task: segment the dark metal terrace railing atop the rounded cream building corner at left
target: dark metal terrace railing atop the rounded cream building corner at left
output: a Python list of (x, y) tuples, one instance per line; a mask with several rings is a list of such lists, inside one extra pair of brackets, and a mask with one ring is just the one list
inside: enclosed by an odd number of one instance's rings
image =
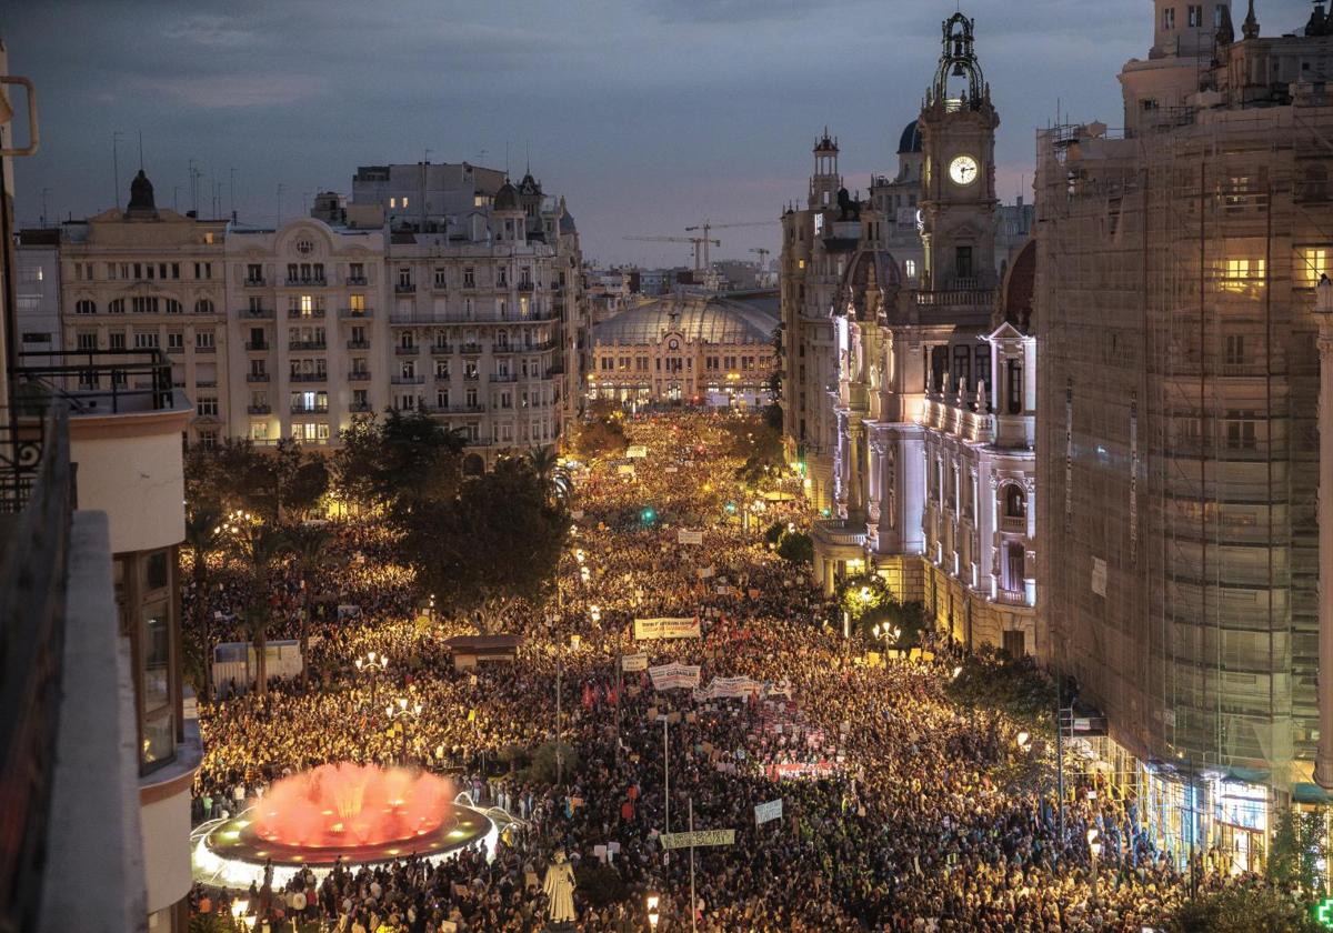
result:
[(157, 349), (28, 351), (19, 353), (13, 392), (20, 408), (64, 399), (71, 415), (119, 415), (176, 407), (172, 364)]

